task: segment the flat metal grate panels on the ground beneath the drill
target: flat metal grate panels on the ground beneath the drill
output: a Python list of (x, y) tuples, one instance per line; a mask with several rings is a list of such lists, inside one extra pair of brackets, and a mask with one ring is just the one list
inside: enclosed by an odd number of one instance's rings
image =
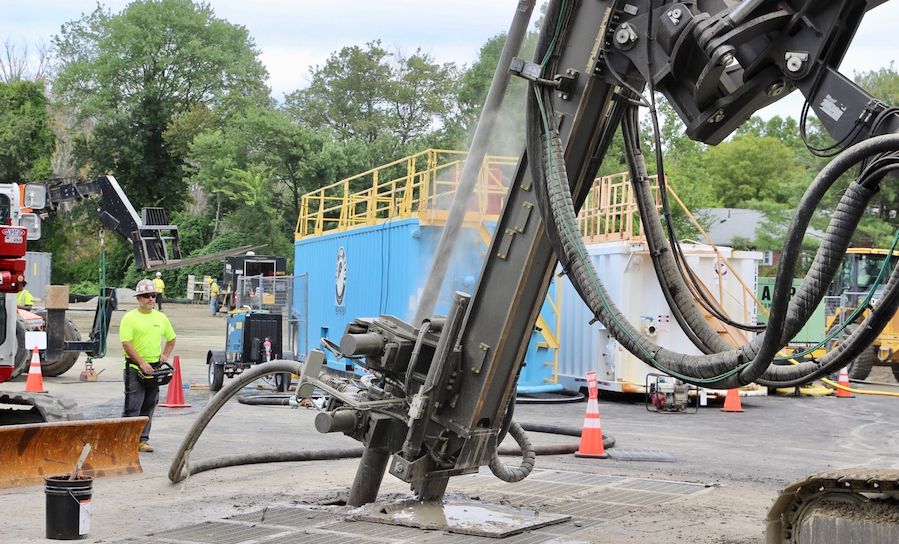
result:
[[(453, 488), (493, 504), (572, 516), (571, 521), (501, 540), (440, 530), (345, 520), (343, 507), (275, 506), (206, 522), (123, 544), (542, 544), (590, 540), (591, 528), (606, 520), (664, 504), (706, 489), (701, 484), (538, 470), (528, 480), (507, 484), (490, 473), (454, 479)], [(404, 491), (405, 492), (405, 491)]]

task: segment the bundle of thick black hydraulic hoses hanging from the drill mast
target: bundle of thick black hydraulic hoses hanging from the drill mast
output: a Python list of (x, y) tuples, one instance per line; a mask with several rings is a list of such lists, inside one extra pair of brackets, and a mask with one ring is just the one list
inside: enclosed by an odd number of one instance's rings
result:
[[(566, 0), (558, 0), (553, 2), (547, 12), (547, 21), (537, 50), (537, 58), (543, 59), (542, 66), (549, 74), (543, 74), (545, 79), (552, 79), (551, 74), (556, 72), (553, 65), (556, 51), (563, 49), (565, 45), (566, 24), (571, 16), (568, 6)], [(696, 319), (701, 314), (695, 308), (691, 309), (692, 297), (686, 292), (682, 280), (676, 277), (679, 276), (679, 273), (675, 273), (677, 264), (670, 254), (666, 255), (670, 248), (666, 247), (667, 242), (661, 234), (655, 207), (647, 201), (650, 195), (645, 183), (645, 164), (639, 152), (635, 104), (641, 99), (638, 94), (620, 97), (615, 107), (629, 110), (625, 112), (622, 121), (625, 150), (639, 189), (636, 192), (639, 195), (641, 219), (663, 291), (666, 292), (674, 314), (681, 316), (681, 325), (686, 323), (684, 329), (688, 336), (701, 349), (705, 346), (703, 351), (713, 352), (699, 356), (686, 355), (662, 348), (644, 337), (612, 303), (577, 228), (573, 204), (575, 198), (571, 194), (565, 170), (562, 140), (555, 124), (550, 122), (555, 119), (552, 89), (532, 83), (531, 90), (527, 110), (528, 154), (532, 157), (531, 175), (550, 241), (575, 289), (595, 317), (618, 342), (647, 364), (685, 382), (713, 388), (739, 387), (751, 382), (771, 387), (798, 385), (845, 365), (879, 334), (895, 313), (899, 306), (899, 301), (896, 300), (899, 298), (897, 270), (893, 271), (877, 307), (839, 349), (819, 361), (795, 366), (771, 366), (777, 351), (802, 328), (823, 298), (849, 246), (852, 234), (876, 192), (877, 184), (888, 172), (899, 168), (893, 155), (899, 150), (899, 135), (876, 136), (856, 144), (837, 155), (818, 174), (803, 195), (790, 224), (783, 257), (777, 270), (766, 332), (742, 348), (731, 349), (720, 339), (709, 335), (710, 327)], [(872, 159), (873, 162), (867, 164)], [(856, 164), (863, 165), (862, 173), (843, 194), (812, 268), (790, 300), (793, 273), (812, 214), (827, 190)]]

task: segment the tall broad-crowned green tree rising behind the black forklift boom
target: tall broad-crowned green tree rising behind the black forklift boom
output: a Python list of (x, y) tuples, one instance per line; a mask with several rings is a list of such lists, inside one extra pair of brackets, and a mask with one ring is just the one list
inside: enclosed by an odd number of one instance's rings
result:
[(224, 115), (268, 101), (247, 30), (206, 3), (137, 0), (119, 14), (98, 7), (64, 24), (54, 45), (54, 94), (89, 127), (76, 145), (79, 165), (115, 173), (142, 205), (184, 203), (182, 157), (164, 137), (178, 114), (202, 104)]

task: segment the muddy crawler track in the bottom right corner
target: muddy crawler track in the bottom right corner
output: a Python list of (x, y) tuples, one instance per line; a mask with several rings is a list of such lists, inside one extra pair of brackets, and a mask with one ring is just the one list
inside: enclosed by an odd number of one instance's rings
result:
[(899, 542), (899, 470), (813, 474), (781, 492), (767, 525), (768, 544)]

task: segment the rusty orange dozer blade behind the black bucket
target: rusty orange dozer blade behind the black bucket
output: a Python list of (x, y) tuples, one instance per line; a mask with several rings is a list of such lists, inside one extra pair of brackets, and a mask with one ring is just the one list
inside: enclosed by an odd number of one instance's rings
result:
[(146, 417), (131, 417), (0, 426), (0, 488), (68, 474), (85, 444), (91, 445), (82, 468), (86, 475), (143, 472), (137, 447), (146, 423)]

